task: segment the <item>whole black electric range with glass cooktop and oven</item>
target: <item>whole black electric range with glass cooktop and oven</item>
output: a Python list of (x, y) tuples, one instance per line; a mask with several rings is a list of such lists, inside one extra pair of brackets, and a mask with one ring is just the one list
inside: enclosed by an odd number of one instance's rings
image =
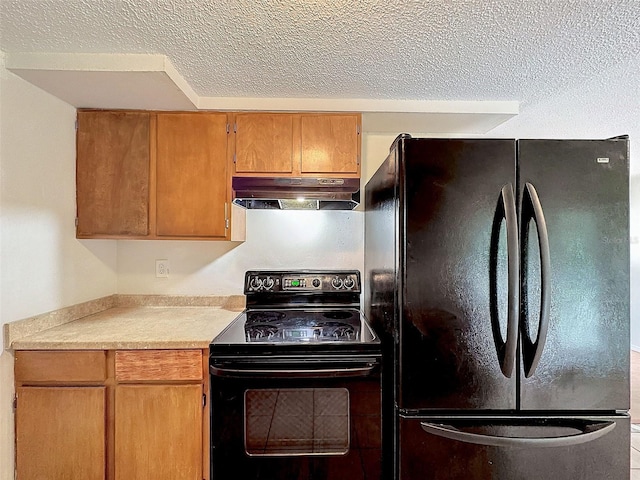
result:
[(360, 273), (249, 271), (209, 347), (211, 479), (381, 479), (381, 346)]

